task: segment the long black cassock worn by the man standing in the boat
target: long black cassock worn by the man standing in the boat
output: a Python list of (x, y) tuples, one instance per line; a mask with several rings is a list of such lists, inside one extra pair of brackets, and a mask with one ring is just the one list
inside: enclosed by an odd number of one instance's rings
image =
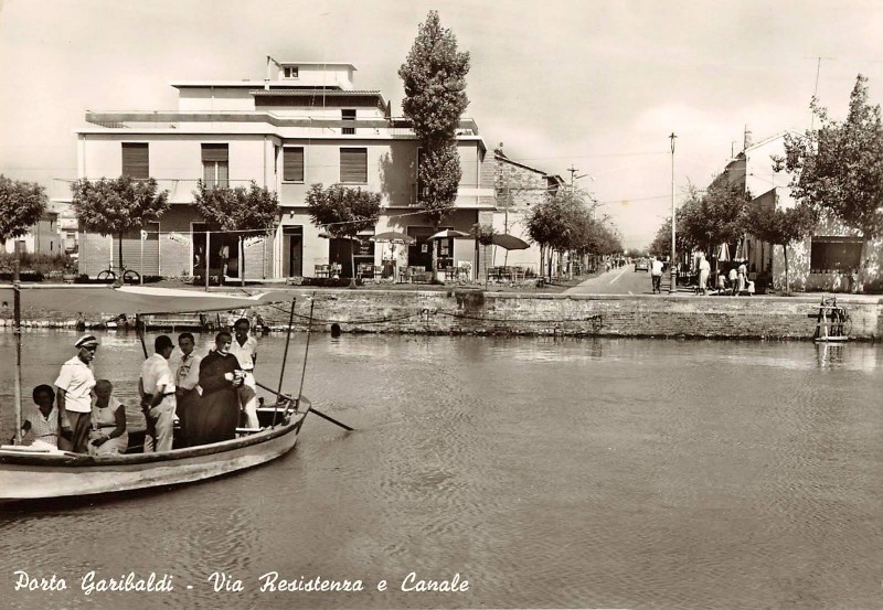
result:
[(240, 395), (224, 378), (225, 373), (240, 368), (233, 354), (211, 352), (200, 363), (202, 396), (188, 408), (184, 432), (188, 445), (208, 445), (236, 438), (240, 424)]

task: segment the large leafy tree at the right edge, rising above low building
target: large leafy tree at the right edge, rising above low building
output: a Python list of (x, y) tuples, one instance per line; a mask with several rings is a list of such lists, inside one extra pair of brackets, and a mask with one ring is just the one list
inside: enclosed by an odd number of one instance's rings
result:
[(883, 235), (883, 122), (880, 105), (868, 101), (868, 78), (861, 74), (850, 94), (842, 122), (810, 104), (819, 118), (818, 130), (785, 136), (785, 156), (775, 158), (776, 170), (794, 174), (794, 197), (817, 212), (830, 212), (861, 233), (862, 266), (868, 240)]

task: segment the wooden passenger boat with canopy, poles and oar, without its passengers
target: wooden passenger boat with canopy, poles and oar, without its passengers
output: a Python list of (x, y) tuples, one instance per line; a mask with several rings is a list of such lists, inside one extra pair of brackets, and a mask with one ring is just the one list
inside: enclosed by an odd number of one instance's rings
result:
[[(170, 314), (192, 311), (223, 311), (266, 304), (274, 295), (228, 297), (195, 291), (146, 289), (140, 287), (25, 287), (7, 288), (14, 292), (15, 329), (19, 341), (15, 366), (17, 430), (21, 428), (21, 304), (34, 306), (51, 298), (51, 290), (64, 290), (56, 301), (65, 311), (126, 312), (136, 315)], [(33, 289), (30, 289), (33, 288)], [(294, 302), (291, 302), (294, 318)], [(286, 357), (290, 327), (286, 340)], [(139, 325), (140, 328), (140, 325)], [(139, 330), (140, 334), (140, 330)], [(307, 349), (309, 349), (309, 332)], [(143, 339), (142, 339), (143, 345)], [(145, 355), (147, 350), (145, 347)], [(305, 356), (306, 361), (306, 356)], [(283, 362), (283, 371), (285, 362)], [(351, 429), (327, 415), (311, 409), (301, 396), (280, 394), (273, 407), (258, 408), (259, 429), (237, 429), (240, 438), (211, 445), (173, 449), (157, 453), (87, 456), (65, 451), (40, 451), (21, 445), (0, 447), (0, 502), (92, 496), (111, 492), (164, 488), (220, 477), (274, 460), (294, 448), (308, 413), (315, 413)], [(301, 378), (302, 387), (302, 378)], [(18, 438), (17, 434), (17, 438)]]

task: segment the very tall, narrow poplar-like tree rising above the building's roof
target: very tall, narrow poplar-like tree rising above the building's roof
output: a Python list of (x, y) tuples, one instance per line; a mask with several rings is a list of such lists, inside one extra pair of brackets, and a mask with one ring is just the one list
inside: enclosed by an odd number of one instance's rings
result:
[[(457, 38), (429, 11), (398, 68), (405, 89), (402, 111), (423, 147), (417, 169), (417, 196), (436, 229), (454, 210), (462, 178), (456, 132), (469, 98), (466, 75), (469, 53), (457, 50)], [(433, 248), (433, 270), (437, 267)]]

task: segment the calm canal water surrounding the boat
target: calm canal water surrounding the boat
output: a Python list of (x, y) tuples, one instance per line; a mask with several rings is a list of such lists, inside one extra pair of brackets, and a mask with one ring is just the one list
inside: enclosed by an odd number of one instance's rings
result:
[[(54, 379), (73, 339), (25, 336), (25, 388)], [(98, 376), (134, 402), (140, 345), (102, 341)], [(0, 334), (4, 438), (12, 345)], [(258, 379), (278, 383), (284, 340), (259, 349)], [(358, 431), (310, 417), (253, 471), (1, 507), (2, 606), (881, 606), (880, 346), (313, 335), (309, 355), (305, 394)], [(92, 570), (173, 590), (86, 595)], [(15, 590), (21, 572), (67, 589)], [(304, 590), (317, 578), (362, 590)], [(414, 590), (429, 580), (456, 590)]]

